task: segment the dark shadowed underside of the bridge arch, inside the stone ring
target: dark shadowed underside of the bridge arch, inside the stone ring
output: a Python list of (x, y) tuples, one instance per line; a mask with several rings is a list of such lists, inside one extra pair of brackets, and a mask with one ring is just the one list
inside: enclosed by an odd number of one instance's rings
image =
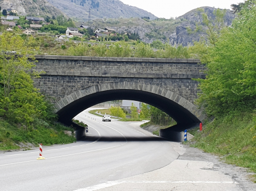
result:
[(77, 99), (57, 112), (59, 121), (70, 126), (72, 124), (72, 118), (83, 110), (112, 100), (135, 100), (161, 109), (177, 122), (177, 125), (169, 128), (169, 130), (175, 132), (181, 132), (200, 123), (200, 120), (194, 114), (173, 100), (155, 93), (133, 89), (113, 89), (96, 92)]

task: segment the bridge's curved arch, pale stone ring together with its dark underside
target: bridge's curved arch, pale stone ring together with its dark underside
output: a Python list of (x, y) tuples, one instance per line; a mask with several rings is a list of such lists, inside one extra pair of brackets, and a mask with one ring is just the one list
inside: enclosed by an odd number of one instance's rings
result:
[(72, 124), (72, 118), (83, 110), (112, 100), (135, 100), (161, 109), (177, 122), (177, 125), (170, 127), (170, 130), (175, 132), (197, 126), (204, 118), (194, 104), (167, 89), (144, 84), (136, 85), (141, 86), (136, 89), (134, 84), (131, 88), (124, 84), (126, 88), (123, 88), (120, 84), (111, 86), (110, 83), (115, 82), (90, 86), (61, 99), (55, 104), (59, 121), (69, 126)]

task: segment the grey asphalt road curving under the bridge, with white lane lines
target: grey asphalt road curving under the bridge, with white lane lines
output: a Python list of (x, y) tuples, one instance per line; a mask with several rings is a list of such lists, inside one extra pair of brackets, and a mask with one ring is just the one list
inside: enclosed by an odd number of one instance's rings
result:
[[(89, 118), (88, 118), (89, 117)], [(76, 190), (160, 169), (177, 159), (173, 143), (134, 126), (82, 112), (86, 139), (69, 145), (0, 154), (0, 190)], [(92, 118), (95, 118), (93, 120)]]

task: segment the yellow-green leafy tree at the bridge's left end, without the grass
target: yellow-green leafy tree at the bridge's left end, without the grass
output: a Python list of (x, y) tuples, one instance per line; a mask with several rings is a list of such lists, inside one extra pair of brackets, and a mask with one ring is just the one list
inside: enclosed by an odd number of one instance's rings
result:
[[(33, 37), (23, 40), (20, 35), (3, 33), (0, 40), (0, 115), (29, 130), (36, 118), (47, 118), (47, 103), (33, 87), (32, 77), (39, 74), (29, 72), (38, 48), (31, 46), (35, 44)], [(5, 53), (11, 51), (21, 56)]]

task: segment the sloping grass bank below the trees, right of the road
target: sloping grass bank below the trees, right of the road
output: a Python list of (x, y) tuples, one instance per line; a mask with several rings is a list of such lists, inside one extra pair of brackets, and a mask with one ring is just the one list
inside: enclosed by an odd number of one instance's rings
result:
[(190, 145), (256, 173), (256, 117), (252, 114), (215, 119), (195, 133)]

